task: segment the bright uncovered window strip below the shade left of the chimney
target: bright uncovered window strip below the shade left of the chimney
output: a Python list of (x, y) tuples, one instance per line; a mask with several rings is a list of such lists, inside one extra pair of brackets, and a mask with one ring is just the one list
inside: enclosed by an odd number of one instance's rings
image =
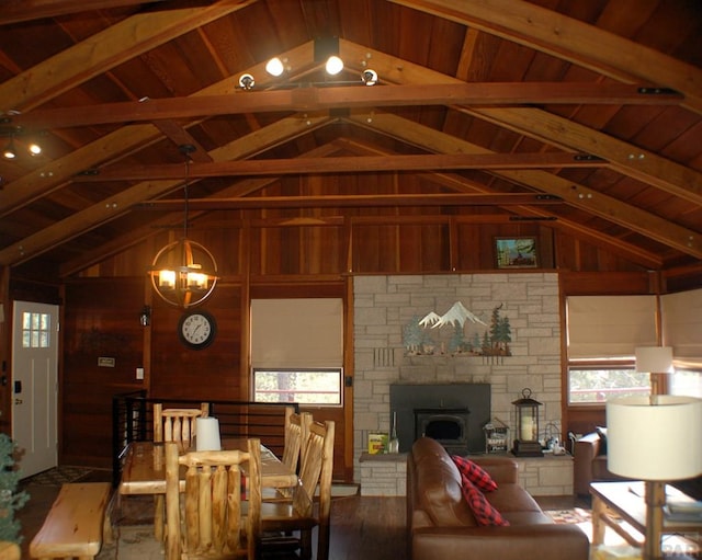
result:
[(341, 368), (253, 369), (256, 402), (341, 405)]

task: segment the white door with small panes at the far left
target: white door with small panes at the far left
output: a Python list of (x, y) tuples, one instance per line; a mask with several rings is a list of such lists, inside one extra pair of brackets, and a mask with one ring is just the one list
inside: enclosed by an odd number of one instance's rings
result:
[(22, 477), (58, 465), (58, 307), (14, 301), (12, 438)]

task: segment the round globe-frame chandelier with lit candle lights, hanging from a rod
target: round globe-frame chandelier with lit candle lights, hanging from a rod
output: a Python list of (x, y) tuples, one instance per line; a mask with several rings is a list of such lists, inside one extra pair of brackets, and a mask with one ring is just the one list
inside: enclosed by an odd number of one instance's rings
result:
[(202, 244), (188, 239), (188, 182), (192, 145), (180, 146), (185, 156), (185, 219), (183, 237), (163, 247), (151, 263), (151, 286), (167, 304), (186, 309), (202, 304), (217, 284), (217, 263)]

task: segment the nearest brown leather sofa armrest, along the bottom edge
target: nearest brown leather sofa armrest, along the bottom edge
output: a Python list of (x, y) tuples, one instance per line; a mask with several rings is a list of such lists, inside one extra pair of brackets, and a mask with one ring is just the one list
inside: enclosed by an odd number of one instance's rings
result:
[(590, 541), (575, 525), (432, 527), (415, 532), (411, 560), (588, 560)]

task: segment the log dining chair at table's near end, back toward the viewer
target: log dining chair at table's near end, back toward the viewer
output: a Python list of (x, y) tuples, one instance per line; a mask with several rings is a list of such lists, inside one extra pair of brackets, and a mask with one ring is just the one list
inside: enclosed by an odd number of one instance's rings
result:
[(254, 560), (261, 537), (261, 441), (248, 439), (246, 452), (180, 455), (178, 444), (165, 447), (166, 560)]

